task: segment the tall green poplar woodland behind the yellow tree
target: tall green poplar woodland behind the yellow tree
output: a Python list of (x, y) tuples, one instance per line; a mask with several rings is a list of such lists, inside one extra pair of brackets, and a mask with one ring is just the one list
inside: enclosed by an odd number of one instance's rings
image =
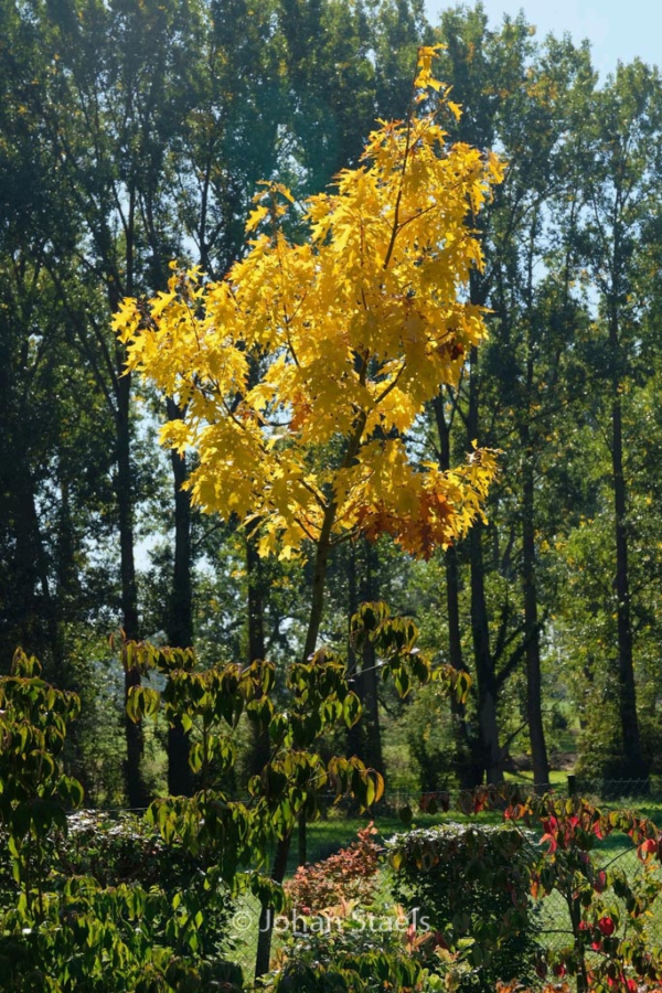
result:
[(428, 562), (344, 546), (322, 633), (345, 648), (384, 599), (472, 688), (399, 701), (366, 644), (344, 744), (403, 790), (662, 771), (658, 70), (600, 85), (587, 44), (480, 4), (430, 24), (417, 0), (0, 0), (0, 673), (20, 644), (83, 696), (68, 761), (90, 803), (191, 787), (178, 729), (122, 716), (109, 634), (282, 669), (311, 585), (191, 508), (186, 458), (156, 440), (181, 410), (121, 375), (111, 316), (173, 258), (221, 277), (260, 180), (302, 197), (355, 166), (439, 41), (463, 110), (445, 126), (508, 171), (470, 287), (490, 340), (409, 444), (445, 469), (477, 440), (500, 478), (488, 523)]

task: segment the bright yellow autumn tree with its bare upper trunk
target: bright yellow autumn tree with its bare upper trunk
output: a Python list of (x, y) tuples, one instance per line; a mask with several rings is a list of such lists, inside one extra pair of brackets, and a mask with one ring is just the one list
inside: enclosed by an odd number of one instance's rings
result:
[[(419, 51), (414, 106), (433, 88), (457, 115), (434, 54)], [(196, 452), (193, 502), (254, 530), (263, 555), (314, 549), (306, 655), (334, 545), (387, 533), (428, 557), (481, 514), (494, 474), (490, 451), (441, 472), (407, 448), (485, 334), (467, 302), (482, 265), (470, 224), (502, 178), (494, 156), (449, 146), (438, 118), (380, 122), (360, 167), (302, 206), (265, 184), (247, 253), (224, 279), (175, 269), (169, 292), (126, 299), (115, 318), (128, 369), (185, 412), (161, 441)], [(297, 239), (284, 233), (288, 211)]]

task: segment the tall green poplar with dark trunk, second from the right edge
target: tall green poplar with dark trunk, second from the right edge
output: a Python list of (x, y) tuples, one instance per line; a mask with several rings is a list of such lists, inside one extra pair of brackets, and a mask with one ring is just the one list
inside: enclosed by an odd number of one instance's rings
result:
[[(548, 508), (543, 515), (537, 502), (546, 428), (570, 402), (576, 385), (572, 353), (567, 366), (560, 360), (580, 318), (569, 291), (576, 255), (552, 263), (551, 250), (558, 227), (572, 224), (565, 207), (568, 191), (575, 193), (572, 129), (594, 77), (586, 47), (554, 39), (536, 44), (523, 17), (490, 29), (480, 4), (446, 12), (440, 36), (447, 44), (445, 74), (462, 106), (453, 134), (502, 149), (508, 161), (504, 183), (477, 221), (487, 264), (471, 285), (472, 299), (493, 311), (489, 322), (494, 333), (480, 359), (478, 353), (467, 356), (460, 391), (445, 391), (433, 410), (442, 466), (476, 438), (504, 450), (490, 524), (472, 531), (466, 552), (446, 553), (449, 658), (458, 669), (476, 671), (476, 714), (455, 715), (456, 747), (468, 757), (465, 784), (483, 776), (500, 781), (508, 745), (527, 726), (534, 778), (544, 787), (548, 759), (538, 558)], [(541, 279), (538, 273), (547, 266), (553, 275)], [(526, 704), (509, 728), (508, 686), (522, 670)]]

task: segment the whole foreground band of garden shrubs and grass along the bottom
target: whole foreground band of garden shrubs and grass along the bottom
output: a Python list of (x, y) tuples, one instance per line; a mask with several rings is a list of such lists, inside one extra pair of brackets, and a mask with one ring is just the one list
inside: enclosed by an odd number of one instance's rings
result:
[[(309, 691), (327, 682), (329, 666), (333, 674), (333, 662), (318, 654), (298, 673), (302, 724), (318, 712)], [(254, 673), (211, 672), (206, 700), (180, 712), (200, 716), (213, 705), (220, 714), (204, 765), (244, 705), (258, 704), (252, 713), (277, 739), (268, 685), (256, 696)], [(325, 703), (343, 695), (342, 679), (333, 682)], [(154, 694), (151, 712), (164, 704)], [(297, 786), (301, 769), (321, 768), (317, 735), (290, 768), (286, 737), (246, 802), (207, 782), (189, 799), (154, 800), (145, 816), (67, 814), (84, 802), (62, 767), (77, 698), (18, 654), (13, 674), (0, 680), (0, 980), (8, 993), (478, 993), (546, 978), (572, 980), (578, 991), (636, 993), (662, 979), (662, 834), (645, 816), (483, 787), (461, 798), (462, 822), (401, 830), (384, 844), (371, 821), (351, 844), (300, 864), (280, 885), (285, 874), (265, 874), (270, 855), (295, 825), (301, 831), (321, 816), (310, 784)], [(354, 720), (351, 711), (345, 722)], [(378, 803), (380, 782), (360, 762), (337, 758), (329, 770), (324, 787), (334, 784), (337, 802)], [(428, 794), (424, 815), (435, 804)], [(502, 823), (483, 823), (485, 813)], [(265, 909), (275, 915), (277, 942), (260, 971)], [(257, 954), (256, 985), (247, 949)]]

